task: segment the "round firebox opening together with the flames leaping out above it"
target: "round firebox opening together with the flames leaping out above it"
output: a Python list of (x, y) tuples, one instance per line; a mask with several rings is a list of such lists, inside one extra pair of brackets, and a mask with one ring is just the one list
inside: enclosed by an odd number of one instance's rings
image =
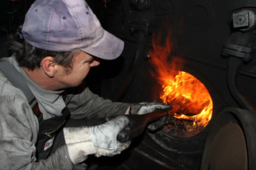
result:
[[(167, 36), (164, 38), (165, 31)], [(196, 135), (204, 130), (211, 120), (213, 104), (204, 84), (184, 71), (186, 60), (171, 55), (176, 43), (172, 29), (165, 31), (158, 32), (152, 40), (149, 62), (154, 69), (151, 74), (161, 85), (161, 101), (173, 106), (171, 115), (176, 118), (175, 123), (169, 123), (163, 130), (171, 136), (187, 138), (184, 135), (187, 132)], [(191, 137), (190, 134), (188, 136)]]

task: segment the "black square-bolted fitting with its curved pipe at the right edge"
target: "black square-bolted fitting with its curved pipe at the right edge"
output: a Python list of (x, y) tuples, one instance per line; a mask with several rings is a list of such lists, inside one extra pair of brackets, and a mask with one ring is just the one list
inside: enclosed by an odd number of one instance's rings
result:
[(239, 9), (231, 13), (229, 23), (232, 34), (223, 45), (223, 55), (229, 57), (227, 82), (231, 94), (242, 108), (256, 114), (254, 104), (242, 93), (238, 85), (238, 74), (243, 62), (250, 62), (255, 57), (255, 9)]

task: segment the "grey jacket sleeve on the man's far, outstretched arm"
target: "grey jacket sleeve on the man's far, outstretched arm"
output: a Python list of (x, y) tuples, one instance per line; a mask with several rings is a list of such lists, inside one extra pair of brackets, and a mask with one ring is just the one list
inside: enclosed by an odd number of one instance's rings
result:
[(77, 92), (72, 92), (74, 95), (68, 95), (66, 100), (73, 119), (124, 115), (127, 108), (130, 107), (130, 104), (112, 102), (91, 93), (85, 83), (80, 86), (80, 89), (76, 90)]

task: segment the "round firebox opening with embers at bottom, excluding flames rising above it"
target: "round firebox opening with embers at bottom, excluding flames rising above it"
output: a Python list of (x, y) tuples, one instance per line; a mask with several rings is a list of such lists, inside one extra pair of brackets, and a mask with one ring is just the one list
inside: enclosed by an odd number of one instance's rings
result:
[[(175, 75), (175, 74), (176, 75)], [(176, 138), (191, 138), (200, 134), (212, 115), (212, 100), (208, 89), (192, 74), (184, 71), (169, 72), (163, 79), (160, 98), (173, 106), (174, 123), (166, 124), (161, 132)]]

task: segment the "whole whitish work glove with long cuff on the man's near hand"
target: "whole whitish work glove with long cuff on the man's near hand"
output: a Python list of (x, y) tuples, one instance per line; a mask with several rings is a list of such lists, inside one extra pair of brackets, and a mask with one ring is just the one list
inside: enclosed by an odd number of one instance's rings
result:
[(87, 159), (87, 155), (112, 157), (127, 149), (129, 142), (118, 142), (118, 133), (127, 127), (129, 119), (118, 115), (115, 119), (95, 127), (65, 127), (64, 138), (73, 164)]

